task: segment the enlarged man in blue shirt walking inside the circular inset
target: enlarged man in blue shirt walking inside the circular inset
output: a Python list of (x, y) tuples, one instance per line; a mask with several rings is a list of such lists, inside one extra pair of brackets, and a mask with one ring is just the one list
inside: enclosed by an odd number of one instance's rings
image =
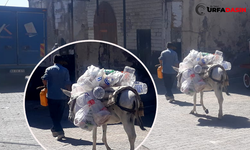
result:
[(48, 89), (46, 97), (48, 99), (50, 117), (53, 122), (51, 132), (57, 140), (61, 140), (64, 137), (61, 119), (67, 100), (67, 96), (61, 91), (61, 88), (70, 89), (71, 82), (69, 71), (62, 66), (65, 63), (62, 56), (55, 55), (53, 61), (54, 65), (45, 70), (42, 81)]

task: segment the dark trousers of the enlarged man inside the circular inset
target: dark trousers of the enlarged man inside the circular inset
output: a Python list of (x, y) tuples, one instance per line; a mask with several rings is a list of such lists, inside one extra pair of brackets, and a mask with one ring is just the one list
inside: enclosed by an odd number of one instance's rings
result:
[(52, 132), (63, 133), (61, 120), (62, 120), (65, 104), (66, 104), (66, 100), (54, 100), (54, 99), (48, 98), (49, 113), (53, 122), (53, 126), (51, 128)]

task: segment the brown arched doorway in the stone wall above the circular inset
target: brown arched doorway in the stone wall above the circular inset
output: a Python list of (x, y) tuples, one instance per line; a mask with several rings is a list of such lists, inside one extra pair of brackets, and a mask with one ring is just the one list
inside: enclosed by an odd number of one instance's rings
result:
[(99, 9), (95, 12), (94, 38), (117, 44), (116, 17), (108, 2), (101, 2)]

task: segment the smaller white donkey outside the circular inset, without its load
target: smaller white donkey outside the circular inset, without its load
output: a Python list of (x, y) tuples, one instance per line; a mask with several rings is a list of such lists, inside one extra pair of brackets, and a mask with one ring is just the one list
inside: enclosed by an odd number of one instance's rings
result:
[[(175, 71), (178, 72), (177, 75), (177, 80), (180, 81), (181, 78), (181, 73), (178, 71), (179, 69), (176, 67), (173, 67)], [(222, 104), (223, 104), (223, 95), (222, 95), (222, 90), (224, 89), (226, 94), (229, 95), (227, 91), (227, 86), (229, 85), (228, 82), (228, 76), (224, 68), (220, 65), (214, 65), (209, 68), (204, 68), (206, 70), (205, 75), (203, 76), (204, 82), (206, 83), (205, 88), (200, 92), (200, 103), (201, 106), (203, 107), (203, 110), (205, 111), (206, 114), (209, 113), (208, 109), (204, 106), (203, 103), (203, 92), (204, 91), (211, 91), (213, 90), (215, 93), (215, 96), (218, 99), (219, 103), (219, 114), (218, 118), (221, 119), (223, 116), (223, 111), (222, 111)], [(208, 69), (208, 70), (207, 70)], [(178, 85), (180, 87), (180, 85)], [(191, 114), (197, 113), (196, 112), (196, 94), (193, 96), (194, 100), (194, 106), (193, 110), (190, 112)]]

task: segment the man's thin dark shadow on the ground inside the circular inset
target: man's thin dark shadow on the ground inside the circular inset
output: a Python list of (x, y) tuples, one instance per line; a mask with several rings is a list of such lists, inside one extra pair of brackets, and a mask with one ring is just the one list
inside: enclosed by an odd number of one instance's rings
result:
[[(70, 144), (73, 146), (92, 145), (93, 144), (93, 142), (90, 142), (90, 141), (85, 141), (82, 139), (74, 139), (74, 138), (70, 138), (70, 137), (65, 137), (59, 142), (67, 143), (67, 144)], [(103, 143), (96, 143), (96, 145), (104, 145), (104, 144)]]

